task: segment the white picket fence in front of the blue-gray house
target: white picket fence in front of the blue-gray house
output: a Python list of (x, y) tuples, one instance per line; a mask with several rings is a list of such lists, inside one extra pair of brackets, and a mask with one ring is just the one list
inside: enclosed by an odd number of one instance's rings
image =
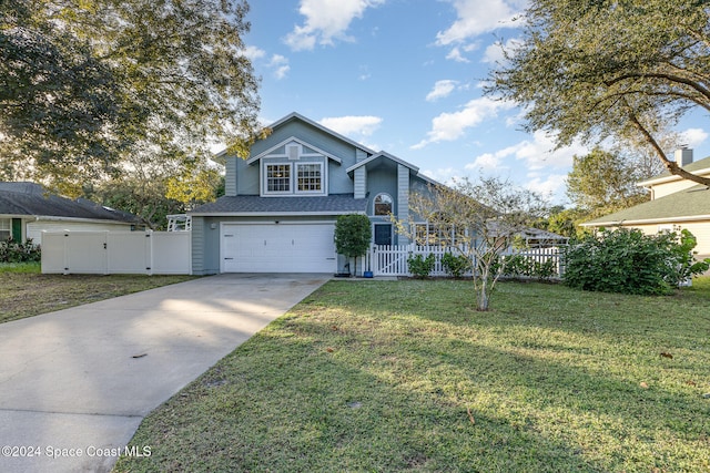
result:
[[(458, 254), (456, 250), (442, 246), (373, 245), (365, 255), (363, 267), (364, 270), (371, 270), (373, 276), (412, 276), (407, 258), (415, 255), (423, 255), (425, 257), (427, 255), (434, 255), (436, 263), (429, 276), (448, 276), (448, 273), (442, 265), (442, 256), (446, 253)], [(529, 248), (525, 250), (509, 249), (503, 254), (503, 256), (509, 255), (520, 255), (540, 264), (552, 259), (556, 268), (555, 277), (561, 277), (564, 274), (559, 247)]]

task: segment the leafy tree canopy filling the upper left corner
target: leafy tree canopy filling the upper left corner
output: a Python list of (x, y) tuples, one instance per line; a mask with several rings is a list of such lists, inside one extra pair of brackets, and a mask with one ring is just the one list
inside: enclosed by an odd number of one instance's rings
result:
[[(4, 0), (0, 173), (67, 194), (132, 160), (245, 155), (258, 81), (242, 0)], [(201, 168), (197, 164), (195, 167)]]

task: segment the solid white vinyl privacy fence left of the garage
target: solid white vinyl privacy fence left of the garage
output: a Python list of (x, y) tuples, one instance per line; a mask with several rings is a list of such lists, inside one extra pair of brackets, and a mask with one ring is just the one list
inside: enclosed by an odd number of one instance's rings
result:
[(190, 232), (43, 232), (44, 274), (192, 274)]

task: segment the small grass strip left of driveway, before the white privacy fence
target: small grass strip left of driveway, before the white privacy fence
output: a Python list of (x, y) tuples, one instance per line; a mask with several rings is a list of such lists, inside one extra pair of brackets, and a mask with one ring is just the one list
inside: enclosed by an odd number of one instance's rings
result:
[(182, 282), (193, 276), (42, 275), (32, 263), (0, 265), (0, 322)]

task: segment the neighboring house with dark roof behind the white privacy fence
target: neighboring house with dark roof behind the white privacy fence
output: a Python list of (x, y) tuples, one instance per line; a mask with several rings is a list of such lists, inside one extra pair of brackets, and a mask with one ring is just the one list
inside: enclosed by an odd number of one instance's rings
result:
[(135, 224), (131, 214), (52, 195), (39, 184), (0, 182), (0, 239), (41, 244), (43, 230), (131, 230)]

